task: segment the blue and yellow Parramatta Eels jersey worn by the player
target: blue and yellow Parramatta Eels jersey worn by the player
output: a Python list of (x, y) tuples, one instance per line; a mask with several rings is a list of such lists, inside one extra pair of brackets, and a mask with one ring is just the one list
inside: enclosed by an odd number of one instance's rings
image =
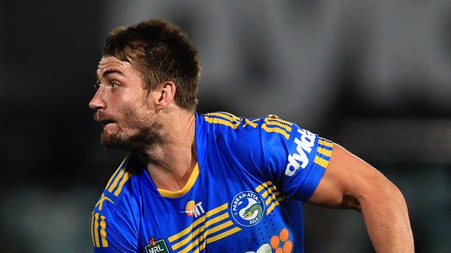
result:
[(135, 154), (125, 158), (92, 213), (95, 252), (303, 252), (301, 203), (332, 142), (275, 115), (224, 112), (196, 113), (195, 141), (180, 191), (158, 189)]

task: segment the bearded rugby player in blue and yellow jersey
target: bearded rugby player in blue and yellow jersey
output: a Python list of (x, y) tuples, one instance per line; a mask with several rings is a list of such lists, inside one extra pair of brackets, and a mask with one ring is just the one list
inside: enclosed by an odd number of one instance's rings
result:
[(90, 108), (103, 146), (130, 152), (94, 207), (95, 252), (303, 252), (303, 202), (358, 210), (377, 252), (414, 252), (379, 171), (276, 115), (196, 113), (199, 73), (167, 21), (106, 38)]

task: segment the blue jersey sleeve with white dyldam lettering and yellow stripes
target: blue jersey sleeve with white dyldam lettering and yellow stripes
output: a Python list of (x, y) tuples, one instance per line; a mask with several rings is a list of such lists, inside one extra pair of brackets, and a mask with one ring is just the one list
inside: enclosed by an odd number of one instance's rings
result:
[(262, 164), (284, 195), (306, 201), (318, 186), (333, 143), (275, 115), (264, 118), (260, 141)]

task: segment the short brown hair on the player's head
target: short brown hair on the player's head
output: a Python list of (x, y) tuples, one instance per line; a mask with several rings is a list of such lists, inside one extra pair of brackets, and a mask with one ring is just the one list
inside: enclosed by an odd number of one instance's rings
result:
[(176, 103), (194, 110), (200, 76), (198, 50), (188, 43), (178, 26), (161, 19), (112, 30), (105, 39), (103, 55), (130, 62), (144, 76), (151, 90), (163, 82), (176, 84)]

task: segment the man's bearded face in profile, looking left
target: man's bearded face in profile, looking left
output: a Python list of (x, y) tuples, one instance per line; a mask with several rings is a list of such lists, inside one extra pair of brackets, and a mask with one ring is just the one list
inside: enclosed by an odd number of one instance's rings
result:
[(104, 56), (96, 75), (98, 89), (90, 108), (96, 111), (94, 120), (103, 126), (103, 146), (139, 151), (162, 142), (142, 74), (129, 62)]

